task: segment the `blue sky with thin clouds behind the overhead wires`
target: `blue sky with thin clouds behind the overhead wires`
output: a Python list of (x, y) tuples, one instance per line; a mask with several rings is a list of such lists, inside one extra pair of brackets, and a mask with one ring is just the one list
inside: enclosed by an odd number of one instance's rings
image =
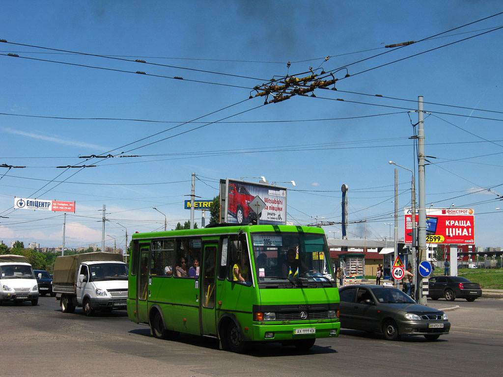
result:
[[(388, 161), (417, 181), (423, 96), (426, 206), (473, 209), (475, 245), (503, 246), (501, 12), (454, 0), (7, 2), (0, 240), (61, 245), (62, 212), (14, 209), (32, 198), (75, 202), (69, 248), (101, 247), (105, 205), (106, 246), (124, 247), (125, 230), (189, 220), (192, 172), (200, 199), (219, 179), (280, 182), (287, 221), (329, 224), (330, 238), (347, 184), (348, 238), (389, 239)], [(310, 70), (338, 80), (314, 97), (254, 97)], [(92, 155), (114, 157), (81, 158)], [(82, 165), (95, 166), (64, 168)], [(410, 180), (398, 168), (400, 237)]]

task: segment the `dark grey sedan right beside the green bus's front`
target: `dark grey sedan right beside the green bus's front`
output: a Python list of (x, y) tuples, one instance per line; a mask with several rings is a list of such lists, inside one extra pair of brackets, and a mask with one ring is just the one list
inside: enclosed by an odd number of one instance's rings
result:
[(435, 340), (451, 328), (447, 314), (416, 304), (396, 288), (348, 286), (339, 290), (339, 296), (342, 328), (384, 333), (388, 340), (400, 335)]

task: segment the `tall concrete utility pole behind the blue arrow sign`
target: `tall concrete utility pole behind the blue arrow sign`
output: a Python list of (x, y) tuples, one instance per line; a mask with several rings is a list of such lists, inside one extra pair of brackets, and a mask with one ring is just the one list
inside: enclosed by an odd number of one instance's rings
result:
[[(418, 115), (418, 128), (417, 128), (417, 170), (419, 176), (419, 234), (418, 244), (419, 253), (417, 263), (421, 263), (426, 258), (426, 194), (425, 194), (425, 122), (423, 117), (423, 96), (417, 98), (417, 115)], [(430, 272), (431, 273), (431, 272)], [(428, 280), (427, 280), (428, 281)], [(426, 296), (423, 296), (423, 278), (417, 276), (416, 291), (418, 293), (419, 303), (426, 305)], [(417, 298), (416, 297), (416, 298)]]

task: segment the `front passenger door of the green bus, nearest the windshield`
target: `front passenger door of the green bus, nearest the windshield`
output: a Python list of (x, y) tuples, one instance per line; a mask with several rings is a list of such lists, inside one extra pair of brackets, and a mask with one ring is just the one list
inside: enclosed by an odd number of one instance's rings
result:
[(215, 266), (217, 244), (206, 244), (203, 251), (201, 329), (204, 335), (217, 335), (215, 315)]

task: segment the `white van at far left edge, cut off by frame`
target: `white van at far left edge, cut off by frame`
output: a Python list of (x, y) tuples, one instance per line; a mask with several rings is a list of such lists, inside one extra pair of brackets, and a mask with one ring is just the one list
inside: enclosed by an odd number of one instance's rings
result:
[(21, 304), (31, 301), (38, 304), (37, 279), (27, 257), (22, 255), (0, 255), (0, 304), (14, 301)]

